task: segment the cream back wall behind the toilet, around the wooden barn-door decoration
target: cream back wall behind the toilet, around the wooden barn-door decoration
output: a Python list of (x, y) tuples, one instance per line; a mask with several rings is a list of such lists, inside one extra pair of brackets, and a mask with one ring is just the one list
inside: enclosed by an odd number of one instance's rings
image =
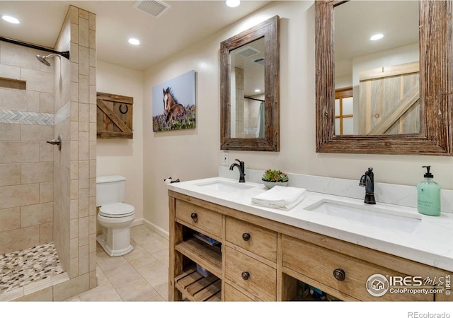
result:
[(96, 81), (98, 92), (134, 98), (134, 139), (98, 139), (96, 148), (97, 176), (126, 177), (125, 203), (135, 208), (134, 225), (143, 218), (143, 72), (98, 61)]

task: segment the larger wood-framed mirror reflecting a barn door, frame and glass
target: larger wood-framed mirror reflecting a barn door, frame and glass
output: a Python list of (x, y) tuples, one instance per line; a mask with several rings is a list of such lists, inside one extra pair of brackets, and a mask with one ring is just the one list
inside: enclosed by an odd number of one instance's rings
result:
[[(357, 55), (343, 59), (348, 54), (343, 45), (355, 45), (348, 37), (372, 35), (355, 33), (367, 30), (372, 18), (342, 18), (355, 10), (352, 4), (369, 6), (360, 12), (384, 20), (380, 41), (399, 34), (400, 42), (382, 49), (384, 42), (376, 41), (374, 52), (355, 47)], [(382, 8), (372, 8), (375, 4)], [(390, 14), (382, 12), (401, 4), (405, 11), (391, 26)], [(413, 17), (403, 22), (401, 14)], [(316, 152), (453, 155), (452, 2), (325, 0), (315, 1), (315, 15)], [(362, 24), (342, 35), (355, 22)], [(407, 33), (399, 33), (406, 25)], [(335, 92), (347, 86), (353, 91), (352, 134), (340, 134)]]

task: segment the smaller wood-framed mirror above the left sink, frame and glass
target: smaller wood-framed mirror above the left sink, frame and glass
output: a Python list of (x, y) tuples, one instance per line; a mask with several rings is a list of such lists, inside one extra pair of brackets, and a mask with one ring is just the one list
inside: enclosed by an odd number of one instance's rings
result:
[(279, 25), (274, 16), (220, 44), (222, 150), (280, 151)]

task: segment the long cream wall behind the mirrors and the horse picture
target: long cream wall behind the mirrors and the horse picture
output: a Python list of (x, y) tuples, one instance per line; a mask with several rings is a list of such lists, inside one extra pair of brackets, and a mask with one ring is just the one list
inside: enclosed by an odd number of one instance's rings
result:
[[(277, 1), (262, 11), (212, 35), (144, 73), (144, 123), (151, 121), (151, 90), (162, 81), (197, 72), (197, 128), (153, 133), (144, 125), (144, 218), (168, 230), (164, 178), (181, 181), (213, 177), (222, 162), (220, 150), (220, 42), (280, 16), (280, 152), (229, 151), (246, 168), (274, 168), (305, 175), (357, 179), (374, 167), (377, 182), (415, 185), (422, 165), (432, 165), (435, 181), (453, 189), (453, 158), (420, 155), (352, 155), (315, 151), (314, 2)], [(238, 175), (239, 177), (239, 175)]]

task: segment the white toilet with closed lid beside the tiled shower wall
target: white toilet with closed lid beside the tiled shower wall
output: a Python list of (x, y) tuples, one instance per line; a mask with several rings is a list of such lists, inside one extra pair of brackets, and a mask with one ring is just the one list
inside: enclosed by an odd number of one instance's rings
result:
[(126, 178), (120, 175), (96, 177), (96, 206), (102, 234), (96, 237), (110, 257), (132, 251), (129, 225), (135, 218), (134, 206), (124, 204)]

